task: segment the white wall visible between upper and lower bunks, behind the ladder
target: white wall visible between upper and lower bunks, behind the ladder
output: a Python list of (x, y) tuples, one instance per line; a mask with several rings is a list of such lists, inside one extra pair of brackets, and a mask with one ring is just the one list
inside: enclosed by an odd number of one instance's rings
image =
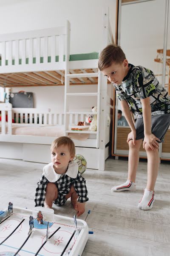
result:
[[(26, 92), (33, 92), (34, 97), (34, 108), (43, 109), (48, 111), (50, 108), (51, 111), (58, 113), (64, 112), (64, 86), (41, 86), (41, 87), (13, 87), (11, 91), (13, 93), (24, 90)], [(72, 85), (72, 92), (96, 92), (97, 85)], [(96, 106), (97, 97), (85, 97), (82, 100), (82, 97), (71, 97), (69, 109), (70, 110), (91, 110), (91, 107)]]

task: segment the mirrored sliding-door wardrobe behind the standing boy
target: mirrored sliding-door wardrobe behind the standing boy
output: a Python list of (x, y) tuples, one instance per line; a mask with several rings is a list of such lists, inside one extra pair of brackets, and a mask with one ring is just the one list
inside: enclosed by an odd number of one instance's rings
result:
[[(170, 94), (170, 4), (169, 0), (122, 0), (118, 3), (117, 44), (134, 66), (143, 66), (153, 71)], [(114, 92), (115, 93), (115, 92)], [(112, 155), (127, 156), (127, 135), (130, 127), (121, 113), (121, 105), (115, 95), (113, 108)], [(136, 116), (131, 115), (135, 122)], [(170, 128), (160, 145), (160, 158), (170, 160)], [(140, 157), (146, 157), (142, 145)]]

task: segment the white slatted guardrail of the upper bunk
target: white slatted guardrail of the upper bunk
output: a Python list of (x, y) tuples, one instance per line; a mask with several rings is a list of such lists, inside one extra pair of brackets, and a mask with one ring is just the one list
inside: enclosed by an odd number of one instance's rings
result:
[(66, 34), (63, 26), (0, 35), (0, 73), (61, 69)]

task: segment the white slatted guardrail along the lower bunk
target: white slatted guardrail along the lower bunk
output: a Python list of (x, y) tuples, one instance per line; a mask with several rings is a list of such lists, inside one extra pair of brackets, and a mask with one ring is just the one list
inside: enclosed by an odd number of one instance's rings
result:
[[(64, 128), (64, 113), (45, 112), (37, 108), (12, 108), (11, 103), (0, 103), (0, 113), (1, 134), (3, 135), (12, 135), (12, 122), (14, 125), (63, 125)], [(80, 120), (83, 122), (87, 113), (70, 112), (69, 125), (77, 125)]]

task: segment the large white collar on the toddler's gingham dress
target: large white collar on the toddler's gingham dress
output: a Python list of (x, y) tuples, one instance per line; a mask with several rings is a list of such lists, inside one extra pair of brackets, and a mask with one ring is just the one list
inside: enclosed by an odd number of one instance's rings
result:
[[(74, 162), (70, 162), (68, 164), (67, 172), (64, 175), (68, 175), (69, 177), (75, 179), (78, 174), (78, 164)], [(49, 182), (56, 182), (61, 177), (61, 174), (57, 174), (54, 170), (54, 166), (52, 163), (48, 163), (43, 168), (43, 175), (47, 178)]]

